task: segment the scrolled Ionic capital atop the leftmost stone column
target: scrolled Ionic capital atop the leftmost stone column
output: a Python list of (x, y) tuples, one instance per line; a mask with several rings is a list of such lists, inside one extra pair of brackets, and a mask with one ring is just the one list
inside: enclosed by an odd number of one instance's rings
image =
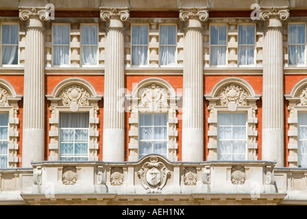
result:
[(19, 7), (19, 18), (27, 21), (30, 17), (38, 17), (41, 21), (49, 20), (49, 8), (45, 7)]

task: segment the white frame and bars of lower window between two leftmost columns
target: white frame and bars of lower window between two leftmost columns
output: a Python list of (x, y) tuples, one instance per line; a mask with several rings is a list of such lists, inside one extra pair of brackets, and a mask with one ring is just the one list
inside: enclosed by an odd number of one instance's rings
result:
[[(63, 112), (60, 112), (60, 115), (61, 115), (61, 113), (63, 113)], [(69, 113), (73, 114), (73, 112), (69, 112)], [(90, 112), (88, 112), (88, 121), (90, 120), (89, 116), (90, 116)], [(61, 130), (64, 130), (64, 129), (67, 129), (67, 130), (73, 129), (73, 141), (72, 142), (62, 142), (62, 140), (61, 140)], [(76, 144), (76, 142), (75, 142), (75, 130), (78, 130), (78, 129), (79, 130), (82, 129), (82, 130), (87, 130), (88, 131), (88, 140), (86, 142), (88, 149), (87, 149), (87, 152), (86, 152), (86, 154), (87, 154), (86, 156), (77, 156), (77, 155), (75, 155), (75, 144)], [(59, 138), (59, 140), (60, 140), (60, 142), (59, 142), (59, 144), (60, 144), (60, 151), (61, 151), (61, 143), (73, 143), (73, 155), (72, 156), (61, 155), (61, 152), (60, 152), (60, 160), (66, 160), (66, 159), (62, 159), (63, 157), (69, 157), (69, 158), (73, 158), (73, 161), (75, 161), (75, 159), (78, 158), (78, 157), (86, 157), (86, 161), (87, 161), (88, 160), (88, 156), (90, 154), (90, 150), (89, 150), (89, 144), (90, 144), (90, 124), (88, 124), (87, 128), (61, 128), (60, 127), (59, 132), (60, 132), (59, 133), (59, 136), (60, 136), (60, 138)], [(85, 143), (85, 142), (82, 142), (82, 143)]]

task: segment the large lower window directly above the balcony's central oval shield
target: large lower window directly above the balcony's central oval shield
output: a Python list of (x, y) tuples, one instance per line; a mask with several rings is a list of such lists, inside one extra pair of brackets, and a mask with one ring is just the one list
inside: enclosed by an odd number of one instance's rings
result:
[(167, 157), (167, 114), (140, 114), (139, 157), (158, 153)]

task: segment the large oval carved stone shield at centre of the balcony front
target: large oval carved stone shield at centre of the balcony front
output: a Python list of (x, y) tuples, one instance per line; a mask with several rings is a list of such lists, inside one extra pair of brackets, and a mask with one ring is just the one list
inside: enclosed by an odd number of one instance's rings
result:
[(171, 175), (171, 171), (167, 169), (165, 164), (159, 162), (158, 157), (155, 155), (151, 156), (149, 162), (143, 164), (138, 171), (138, 177), (140, 177), (147, 193), (161, 192), (167, 183), (169, 175)]

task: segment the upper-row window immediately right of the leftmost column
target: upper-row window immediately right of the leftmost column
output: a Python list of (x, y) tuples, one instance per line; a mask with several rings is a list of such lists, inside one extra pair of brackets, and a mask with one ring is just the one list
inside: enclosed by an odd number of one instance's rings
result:
[(53, 65), (69, 64), (69, 25), (53, 25)]

